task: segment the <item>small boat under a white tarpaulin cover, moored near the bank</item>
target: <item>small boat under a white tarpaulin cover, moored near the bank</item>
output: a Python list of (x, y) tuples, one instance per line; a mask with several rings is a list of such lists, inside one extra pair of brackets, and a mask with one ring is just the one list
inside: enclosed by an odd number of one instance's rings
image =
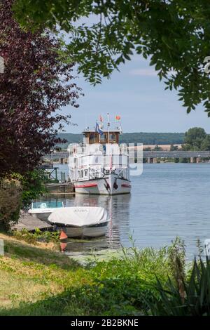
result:
[(110, 221), (103, 207), (64, 207), (53, 211), (48, 222), (62, 229), (68, 237), (99, 237), (106, 235)]

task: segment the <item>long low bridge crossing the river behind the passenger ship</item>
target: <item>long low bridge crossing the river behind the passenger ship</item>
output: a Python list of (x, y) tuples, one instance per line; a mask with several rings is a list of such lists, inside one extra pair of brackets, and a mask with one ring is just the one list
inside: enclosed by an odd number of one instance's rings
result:
[[(135, 148), (136, 149), (136, 148)], [(45, 154), (43, 159), (59, 159), (59, 163), (63, 164), (67, 161), (69, 152), (52, 152)], [(143, 151), (143, 158), (146, 158), (148, 163), (157, 161), (158, 158), (190, 158), (191, 163), (198, 163), (201, 158), (210, 158), (210, 151)]]

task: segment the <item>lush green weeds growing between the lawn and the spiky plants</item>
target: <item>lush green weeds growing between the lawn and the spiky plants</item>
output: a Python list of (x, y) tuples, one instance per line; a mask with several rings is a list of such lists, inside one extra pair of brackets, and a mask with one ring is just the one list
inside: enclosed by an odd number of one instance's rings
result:
[(168, 251), (133, 246), (123, 252), (122, 258), (95, 262), (90, 269), (92, 285), (69, 292), (66, 313), (72, 312), (73, 305), (83, 309), (84, 315), (142, 315), (148, 311), (146, 301), (157, 293), (156, 275), (166, 282), (172, 274)]

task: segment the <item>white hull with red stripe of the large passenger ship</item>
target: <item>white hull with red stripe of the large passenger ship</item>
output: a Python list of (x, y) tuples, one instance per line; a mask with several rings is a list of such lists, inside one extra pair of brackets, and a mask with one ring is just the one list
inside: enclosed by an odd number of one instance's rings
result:
[(130, 180), (108, 174), (104, 178), (81, 180), (74, 183), (75, 192), (79, 194), (130, 194)]

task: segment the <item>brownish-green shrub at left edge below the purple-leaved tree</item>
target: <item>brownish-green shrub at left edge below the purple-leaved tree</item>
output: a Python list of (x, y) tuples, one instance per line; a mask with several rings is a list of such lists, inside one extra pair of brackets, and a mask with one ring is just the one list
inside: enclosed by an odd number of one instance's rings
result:
[(0, 182), (0, 230), (8, 231), (20, 216), (22, 187), (19, 180)]

